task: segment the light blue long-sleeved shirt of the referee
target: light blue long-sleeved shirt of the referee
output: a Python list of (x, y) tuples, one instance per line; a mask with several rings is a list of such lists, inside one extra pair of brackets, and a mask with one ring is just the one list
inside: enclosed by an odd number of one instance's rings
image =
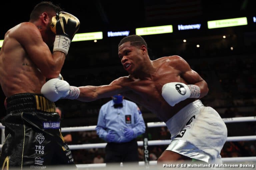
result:
[[(134, 135), (126, 138), (125, 128), (132, 128)], [(96, 127), (100, 138), (106, 140), (108, 132), (115, 134), (112, 142), (128, 142), (145, 132), (145, 123), (139, 107), (131, 101), (123, 100), (123, 107), (114, 108), (111, 100), (100, 108), (98, 123)]]

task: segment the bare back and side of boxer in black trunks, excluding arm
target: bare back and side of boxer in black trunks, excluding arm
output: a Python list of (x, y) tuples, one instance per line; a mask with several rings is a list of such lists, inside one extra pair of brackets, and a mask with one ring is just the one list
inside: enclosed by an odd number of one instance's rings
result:
[(45, 77), (18, 42), (20, 25), (5, 34), (0, 51), (0, 83), (6, 97), (18, 93), (40, 93)]

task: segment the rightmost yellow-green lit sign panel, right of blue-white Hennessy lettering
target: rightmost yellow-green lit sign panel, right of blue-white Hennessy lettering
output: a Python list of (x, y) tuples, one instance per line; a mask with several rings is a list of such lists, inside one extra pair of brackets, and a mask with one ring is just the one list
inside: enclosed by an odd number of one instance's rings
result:
[(208, 29), (247, 25), (247, 18), (242, 17), (242, 18), (232, 18), (232, 19), (226, 19), (226, 20), (208, 21), (207, 25), (208, 25)]

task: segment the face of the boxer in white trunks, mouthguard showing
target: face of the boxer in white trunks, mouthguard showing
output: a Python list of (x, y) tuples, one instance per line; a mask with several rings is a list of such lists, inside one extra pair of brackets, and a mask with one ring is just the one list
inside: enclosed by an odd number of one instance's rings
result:
[(135, 74), (139, 70), (144, 58), (141, 49), (132, 46), (130, 42), (125, 42), (118, 47), (118, 57), (129, 74)]

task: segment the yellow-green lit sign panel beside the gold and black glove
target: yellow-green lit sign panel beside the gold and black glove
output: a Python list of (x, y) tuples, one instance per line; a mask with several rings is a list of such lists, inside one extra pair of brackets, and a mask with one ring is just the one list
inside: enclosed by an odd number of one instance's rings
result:
[(102, 32), (93, 32), (93, 33), (81, 33), (76, 34), (72, 40), (72, 42), (76, 41), (88, 41), (88, 40), (101, 40), (103, 39)]

